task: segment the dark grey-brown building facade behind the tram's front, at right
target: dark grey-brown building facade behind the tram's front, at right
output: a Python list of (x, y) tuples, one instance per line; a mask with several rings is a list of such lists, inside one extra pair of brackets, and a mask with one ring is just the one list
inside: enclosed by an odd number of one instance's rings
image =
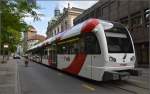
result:
[(149, 66), (148, 0), (100, 0), (74, 19), (78, 24), (88, 18), (100, 18), (124, 24), (130, 31), (136, 50), (136, 66)]

